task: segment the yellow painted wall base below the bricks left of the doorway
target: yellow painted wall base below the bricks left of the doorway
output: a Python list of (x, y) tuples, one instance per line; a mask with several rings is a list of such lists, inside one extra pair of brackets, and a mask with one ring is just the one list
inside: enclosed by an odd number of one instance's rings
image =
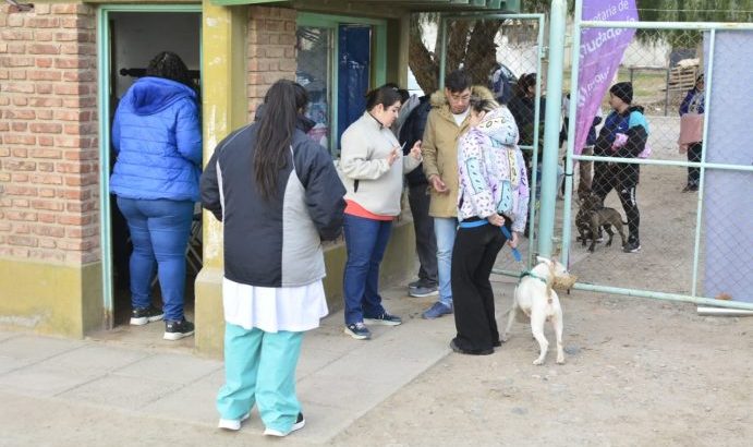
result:
[(0, 326), (82, 338), (105, 322), (101, 264), (0, 259)]

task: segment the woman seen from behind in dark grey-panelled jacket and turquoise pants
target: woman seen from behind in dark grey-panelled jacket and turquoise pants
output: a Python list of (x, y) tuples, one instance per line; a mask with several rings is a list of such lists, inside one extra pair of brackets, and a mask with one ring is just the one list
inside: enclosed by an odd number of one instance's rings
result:
[(256, 403), (265, 435), (287, 436), (305, 424), (295, 366), (303, 333), (328, 312), (321, 242), (342, 232), (345, 189), (329, 154), (306, 136), (306, 90), (280, 80), (264, 102), (257, 122), (215, 149), (202, 203), (223, 224), (219, 427), (240, 430)]

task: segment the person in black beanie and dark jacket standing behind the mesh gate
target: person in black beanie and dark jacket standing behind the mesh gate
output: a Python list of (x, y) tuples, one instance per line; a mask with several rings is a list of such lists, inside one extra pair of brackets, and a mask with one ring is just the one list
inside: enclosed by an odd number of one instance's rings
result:
[[(619, 82), (609, 88), (612, 111), (596, 138), (594, 156), (639, 158), (643, 153), (648, 141), (648, 121), (643, 107), (632, 102), (632, 83)], [(641, 213), (635, 197), (640, 172), (641, 166), (636, 164), (594, 162), (593, 193), (604, 200), (611, 190), (616, 190), (628, 218), (628, 242), (622, 247), (626, 253), (641, 250)]]

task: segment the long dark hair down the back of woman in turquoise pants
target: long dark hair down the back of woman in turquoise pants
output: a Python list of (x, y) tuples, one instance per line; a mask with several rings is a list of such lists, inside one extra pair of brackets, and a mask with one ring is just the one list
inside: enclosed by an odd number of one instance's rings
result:
[(299, 110), (307, 102), (306, 89), (288, 80), (277, 81), (264, 97), (266, 110), (257, 123), (254, 172), (256, 188), (266, 201), (277, 196), (277, 176), (288, 166)]

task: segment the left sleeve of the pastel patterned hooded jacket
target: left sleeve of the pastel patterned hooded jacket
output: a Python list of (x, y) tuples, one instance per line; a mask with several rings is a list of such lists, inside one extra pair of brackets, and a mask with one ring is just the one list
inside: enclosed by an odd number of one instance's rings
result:
[(458, 171), (463, 185), (463, 201), (473, 206), (476, 216), (487, 218), (496, 213), (494, 194), (486, 180), (486, 166), (482, 152), (482, 141), (475, 132), (461, 137), (458, 145)]

